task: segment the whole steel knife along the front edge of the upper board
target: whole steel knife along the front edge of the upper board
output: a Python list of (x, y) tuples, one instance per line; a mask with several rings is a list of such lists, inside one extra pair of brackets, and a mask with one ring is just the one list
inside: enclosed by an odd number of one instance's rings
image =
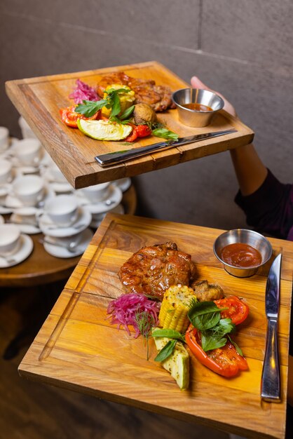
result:
[(164, 142), (158, 142), (154, 144), (149, 144), (146, 147), (126, 149), (123, 151), (110, 152), (108, 154), (101, 154), (100, 156), (95, 156), (95, 160), (103, 168), (105, 166), (116, 165), (116, 163), (121, 163), (122, 161), (131, 160), (132, 158), (137, 158), (140, 156), (145, 156), (151, 154), (152, 152), (163, 151), (165, 149), (179, 147), (183, 144), (189, 144), (193, 142), (199, 142), (200, 140), (210, 139), (212, 137), (219, 137), (220, 135), (236, 133), (237, 130), (223, 130), (214, 131), (214, 133), (203, 133), (196, 134), (186, 137), (179, 137), (178, 140), (165, 140)]

